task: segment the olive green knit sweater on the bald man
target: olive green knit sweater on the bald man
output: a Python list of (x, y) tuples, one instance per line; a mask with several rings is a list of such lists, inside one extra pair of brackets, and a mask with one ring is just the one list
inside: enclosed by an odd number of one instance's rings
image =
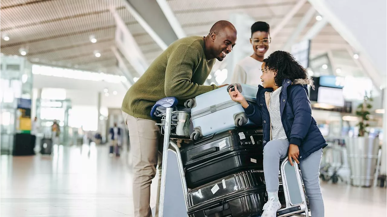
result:
[(202, 85), (214, 63), (215, 59), (207, 61), (205, 58), (203, 37), (190, 36), (175, 41), (129, 88), (122, 111), (136, 118), (152, 119), (152, 106), (159, 99), (174, 96), (183, 104), (187, 99), (218, 88)]

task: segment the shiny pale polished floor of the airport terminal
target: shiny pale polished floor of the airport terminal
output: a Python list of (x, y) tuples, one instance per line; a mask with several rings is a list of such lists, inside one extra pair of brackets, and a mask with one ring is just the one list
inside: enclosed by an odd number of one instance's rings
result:
[[(133, 216), (131, 178), (127, 152), (109, 157), (104, 146), (55, 146), (51, 156), (0, 155), (0, 217)], [(322, 183), (322, 191), (326, 217), (386, 216), (386, 188)]]

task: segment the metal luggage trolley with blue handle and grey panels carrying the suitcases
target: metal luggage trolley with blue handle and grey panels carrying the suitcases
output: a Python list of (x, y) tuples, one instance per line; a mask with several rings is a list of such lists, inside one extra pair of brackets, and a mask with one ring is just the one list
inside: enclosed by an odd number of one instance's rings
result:
[[(173, 111), (176, 104), (177, 99), (175, 97), (166, 97), (159, 100), (154, 106), (154, 108), (156, 106), (165, 108), (161, 123), (156, 124), (161, 125), (161, 130), (164, 134), (161, 188), (159, 195), (159, 217), (188, 216), (188, 188), (182, 157), (178, 145), (171, 139), (190, 139), (190, 115), (186, 111)], [(152, 109), (152, 113), (153, 111), (154, 109)], [(174, 116), (174, 118), (172, 118), (172, 116)], [(175, 129), (180, 128), (180, 133), (177, 131), (177, 133), (171, 133), (172, 127)], [(181, 132), (183, 132), (183, 135)], [(298, 164), (294, 163), (294, 165), (294, 167), (290, 165), (288, 157), (280, 163), (280, 174), (283, 183), (285, 204), (283, 204), (283, 208), (277, 211), (277, 217), (310, 217), (301, 173)], [(224, 210), (223, 207), (229, 206), (222, 206), (220, 211)], [(256, 217), (260, 216), (261, 215), (257, 215)]]

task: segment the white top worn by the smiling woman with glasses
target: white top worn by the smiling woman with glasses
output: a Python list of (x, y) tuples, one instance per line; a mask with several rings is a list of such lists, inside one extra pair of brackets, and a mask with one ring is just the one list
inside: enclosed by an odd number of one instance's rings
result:
[(262, 63), (251, 56), (243, 58), (235, 66), (231, 83), (248, 84), (255, 87), (262, 85), (260, 78), (262, 75)]

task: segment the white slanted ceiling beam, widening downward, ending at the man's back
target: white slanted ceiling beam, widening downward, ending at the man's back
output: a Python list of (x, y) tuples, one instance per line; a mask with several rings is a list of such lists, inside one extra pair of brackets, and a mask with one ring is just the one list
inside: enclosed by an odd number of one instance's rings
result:
[(111, 7), (110, 11), (114, 16), (117, 26), (115, 35), (117, 48), (128, 60), (130, 65), (132, 65), (136, 72), (141, 76), (149, 67), (146, 58), (136, 40), (134, 39), (132, 33), (130, 33), (128, 27), (121, 19), (120, 15), (118, 15), (115, 8)]

